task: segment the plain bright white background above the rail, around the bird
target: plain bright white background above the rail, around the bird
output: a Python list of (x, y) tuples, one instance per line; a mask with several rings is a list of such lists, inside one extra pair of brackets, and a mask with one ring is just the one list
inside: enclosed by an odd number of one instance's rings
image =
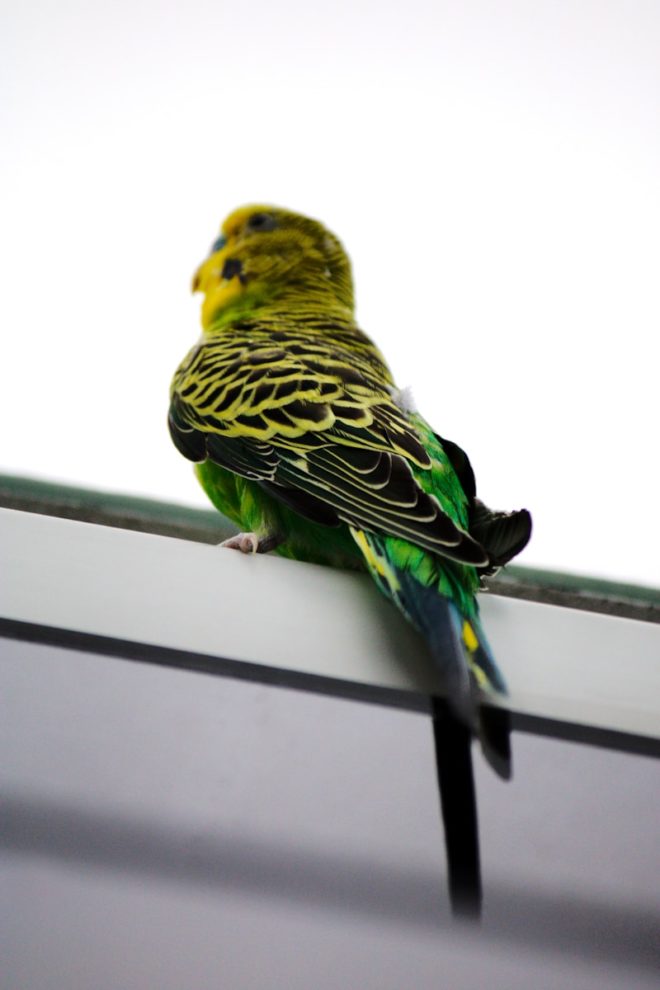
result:
[(533, 511), (521, 563), (660, 583), (657, 0), (2, 21), (0, 470), (206, 504), (165, 423), (190, 276), (271, 202), (341, 237), (399, 384)]

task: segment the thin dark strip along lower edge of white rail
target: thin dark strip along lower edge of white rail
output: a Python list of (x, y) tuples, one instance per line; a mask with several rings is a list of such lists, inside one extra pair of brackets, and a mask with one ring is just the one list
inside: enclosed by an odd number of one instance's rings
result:
[[(272, 667), (249, 660), (233, 660), (229, 657), (173, 649), (153, 643), (99, 636), (96, 633), (80, 632), (76, 629), (63, 629), (58, 626), (0, 617), (0, 637), (431, 714), (431, 697), (418, 691), (401, 691), (375, 684), (362, 684), (359, 681), (347, 681), (339, 677), (323, 677), (320, 674)], [(511, 712), (511, 723), (513, 729), (518, 732), (660, 758), (660, 739), (653, 736), (581, 725), (516, 711)]]

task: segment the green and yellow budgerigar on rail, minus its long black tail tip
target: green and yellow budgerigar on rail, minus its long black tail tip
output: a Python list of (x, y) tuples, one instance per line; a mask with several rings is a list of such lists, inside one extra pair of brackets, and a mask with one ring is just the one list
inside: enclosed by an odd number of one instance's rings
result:
[(202, 336), (174, 376), (169, 426), (243, 531), (225, 545), (366, 568), (426, 637), (454, 711), (507, 776), (508, 753), (484, 738), (480, 696), (506, 689), (475, 596), (527, 543), (529, 513), (487, 509), (467, 456), (397, 389), (321, 223), (236, 210), (193, 289)]

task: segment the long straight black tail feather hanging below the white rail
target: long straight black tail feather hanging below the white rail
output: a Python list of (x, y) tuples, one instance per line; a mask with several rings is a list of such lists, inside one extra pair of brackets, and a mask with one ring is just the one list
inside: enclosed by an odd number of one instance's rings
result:
[(472, 737), (446, 701), (433, 698), (432, 715), (452, 913), (455, 917), (478, 919), (481, 867)]

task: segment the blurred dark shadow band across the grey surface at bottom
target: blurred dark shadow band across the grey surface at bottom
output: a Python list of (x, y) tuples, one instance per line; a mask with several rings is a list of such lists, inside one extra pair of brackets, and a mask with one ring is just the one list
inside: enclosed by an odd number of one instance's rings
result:
[[(344, 912), (397, 926), (441, 930), (453, 924), (440, 862), (429, 871), (396, 863), (302, 850), (226, 833), (186, 834), (146, 820), (108, 818), (64, 804), (9, 797), (2, 802), (2, 843), (115, 874), (251, 893)], [(537, 946), (581, 959), (657, 968), (660, 919), (642, 911), (506, 886), (485, 878), (484, 940)]]

